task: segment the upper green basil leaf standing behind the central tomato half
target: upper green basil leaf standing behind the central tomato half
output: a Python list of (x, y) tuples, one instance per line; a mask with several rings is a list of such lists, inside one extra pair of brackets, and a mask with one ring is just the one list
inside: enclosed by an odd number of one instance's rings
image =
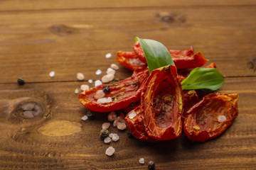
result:
[(138, 37), (136, 37), (135, 40), (139, 40), (142, 46), (147, 65), (149, 66), (149, 72), (169, 64), (174, 65), (170, 52), (161, 42)]

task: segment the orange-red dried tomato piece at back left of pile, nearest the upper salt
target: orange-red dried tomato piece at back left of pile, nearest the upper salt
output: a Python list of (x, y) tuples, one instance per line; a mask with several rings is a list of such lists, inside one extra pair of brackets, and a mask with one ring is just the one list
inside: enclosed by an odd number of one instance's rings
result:
[(146, 64), (139, 60), (135, 52), (117, 52), (117, 62), (122, 64), (127, 69), (135, 70), (135, 69), (146, 69)]

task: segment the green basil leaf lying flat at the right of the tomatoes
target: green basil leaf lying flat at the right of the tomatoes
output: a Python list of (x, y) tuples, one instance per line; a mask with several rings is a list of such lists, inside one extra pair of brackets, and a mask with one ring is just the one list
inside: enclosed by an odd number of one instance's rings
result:
[(197, 67), (193, 69), (186, 79), (181, 81), (182, 89), (208, 89), (215, 91), (224, 84), (223, 74), (213, 68)]

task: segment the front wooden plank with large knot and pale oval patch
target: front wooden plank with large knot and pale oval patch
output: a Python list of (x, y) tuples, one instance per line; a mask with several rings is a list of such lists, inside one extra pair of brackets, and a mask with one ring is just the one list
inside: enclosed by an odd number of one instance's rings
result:
[[(95, 120), (83, 122), (86, 109), (74, 89), (82, 82), (0, 84), (1, 169), (146, 169), (139, 158), (153, 160), (157, 169), (255, 169), (256, 79), (228, 78), (220, 92), (240, 95), (239, 116), (220, 137), (208, 142), (177, 140), (147, 144), (117, 132), (118, 142), (105, 145), (98, 136), (107, 114), (95, 113)], [(18, 114), (23, 103), (43, 108), (36, 118)], [(58, 125), (65, 125), (60, 129)], [(44, 127), (44, 128), (42, 128)], [(64, 129), (64, 130), (63, 130)], [(113, 146), (114, 157), (105, 149)]]

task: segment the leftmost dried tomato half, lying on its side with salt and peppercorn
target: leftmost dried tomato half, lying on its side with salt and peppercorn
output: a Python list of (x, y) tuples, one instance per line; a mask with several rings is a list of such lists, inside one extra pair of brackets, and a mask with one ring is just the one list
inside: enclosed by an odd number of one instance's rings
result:
[[(117, 111), (139, 100), (147, 77), (149, 77), (148, 69), (141, 72), (134, 71), (132, 77), (114, 84), (102, 84), (83, 91), (78, 98), (83, 106), (92, 111)], [(108, 86), (106, 93), (103, 91), (105, 86)]]

